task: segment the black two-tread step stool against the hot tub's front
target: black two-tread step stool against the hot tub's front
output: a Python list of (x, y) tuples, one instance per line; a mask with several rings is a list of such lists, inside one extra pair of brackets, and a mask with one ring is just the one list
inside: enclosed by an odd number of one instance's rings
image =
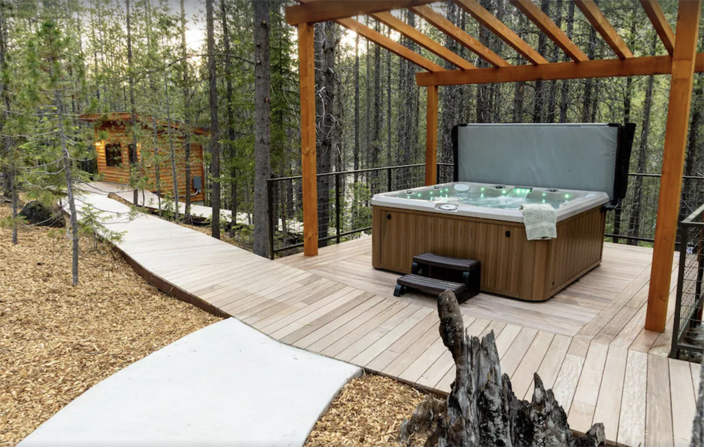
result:
[(482, 263), (478, 260), (423, 253), (413, 256), (411, 274), (398, 278), (394, 296), (401, 296), (408, 289), (434, 296), (450, 290), (459, 303), (464, 303), (479, 294), (481, 282)]

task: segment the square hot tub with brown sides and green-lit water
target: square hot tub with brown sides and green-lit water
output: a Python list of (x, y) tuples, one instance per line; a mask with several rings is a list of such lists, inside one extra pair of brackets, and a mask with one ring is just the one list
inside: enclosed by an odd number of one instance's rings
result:
[[(409, 273), (427, 251), (482, 262), (482, 291), (544, 301), (601, 263), (608, 194), (453, 182), (372, 198), (372, 265)], [(528, 241), (520, 206), (557, 210), (558, 237)]]

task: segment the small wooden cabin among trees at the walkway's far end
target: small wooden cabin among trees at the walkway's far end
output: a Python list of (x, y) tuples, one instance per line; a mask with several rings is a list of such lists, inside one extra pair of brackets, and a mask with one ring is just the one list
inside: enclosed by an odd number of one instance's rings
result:
[[(130, 165), (138, 163), (142, 174), (147, 178), (147, 189), (161, 194), (173, 194), (172, 166), (170, 158), (170, 140), (172, 138), (176, 176), (180, 201), (186, 194), (186, 162), (184, 149), (184, 129), (181, 122), (137, 115), (137, 148), (132, 144), (129, 112), (111, 112), (103, 114), (80, 115), (80, 120), (92, 122), (95, 131), (95, 148), (98, 173), (102, 180), (119, 184), (130, 183)], [(204, 127), (189, 126), (189, 145), (191, 147), (191, 201), (201, 202), (205, 199), (203, 192), (203, 144), (202, 137), (209, 134)], [(156, 153), (154, 141), (156, 139)], [(156, 168), (161, 188), (156, 182)]]

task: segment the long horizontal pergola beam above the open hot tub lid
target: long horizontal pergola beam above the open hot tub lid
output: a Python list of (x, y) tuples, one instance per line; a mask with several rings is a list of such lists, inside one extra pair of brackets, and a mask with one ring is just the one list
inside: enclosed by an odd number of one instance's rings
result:
[[(694, 70), (704, 72), (704, 53), (698, 53)], [(631, 59), (606, 59), (586, 62), (560, 62), (545, 65), (517, 65), (477, 70), (448, 70), (442, 73), (417, 73), (418, 85), (491, 84), (492, 82), (523, 82), (537, 80), (585, 79), (589, 77), (620, 77), (669, 75), (672, 56), (645, 56)]]

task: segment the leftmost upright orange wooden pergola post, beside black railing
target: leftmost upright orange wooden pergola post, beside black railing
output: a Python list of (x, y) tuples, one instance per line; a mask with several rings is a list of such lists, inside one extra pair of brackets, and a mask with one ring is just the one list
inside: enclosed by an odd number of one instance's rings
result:
[(315, 37), (312, 23), (298, 25), (301, 82), (301, 173), (303, 175), (303, 253), (318, 254), (318, 175), (315, 165)]

